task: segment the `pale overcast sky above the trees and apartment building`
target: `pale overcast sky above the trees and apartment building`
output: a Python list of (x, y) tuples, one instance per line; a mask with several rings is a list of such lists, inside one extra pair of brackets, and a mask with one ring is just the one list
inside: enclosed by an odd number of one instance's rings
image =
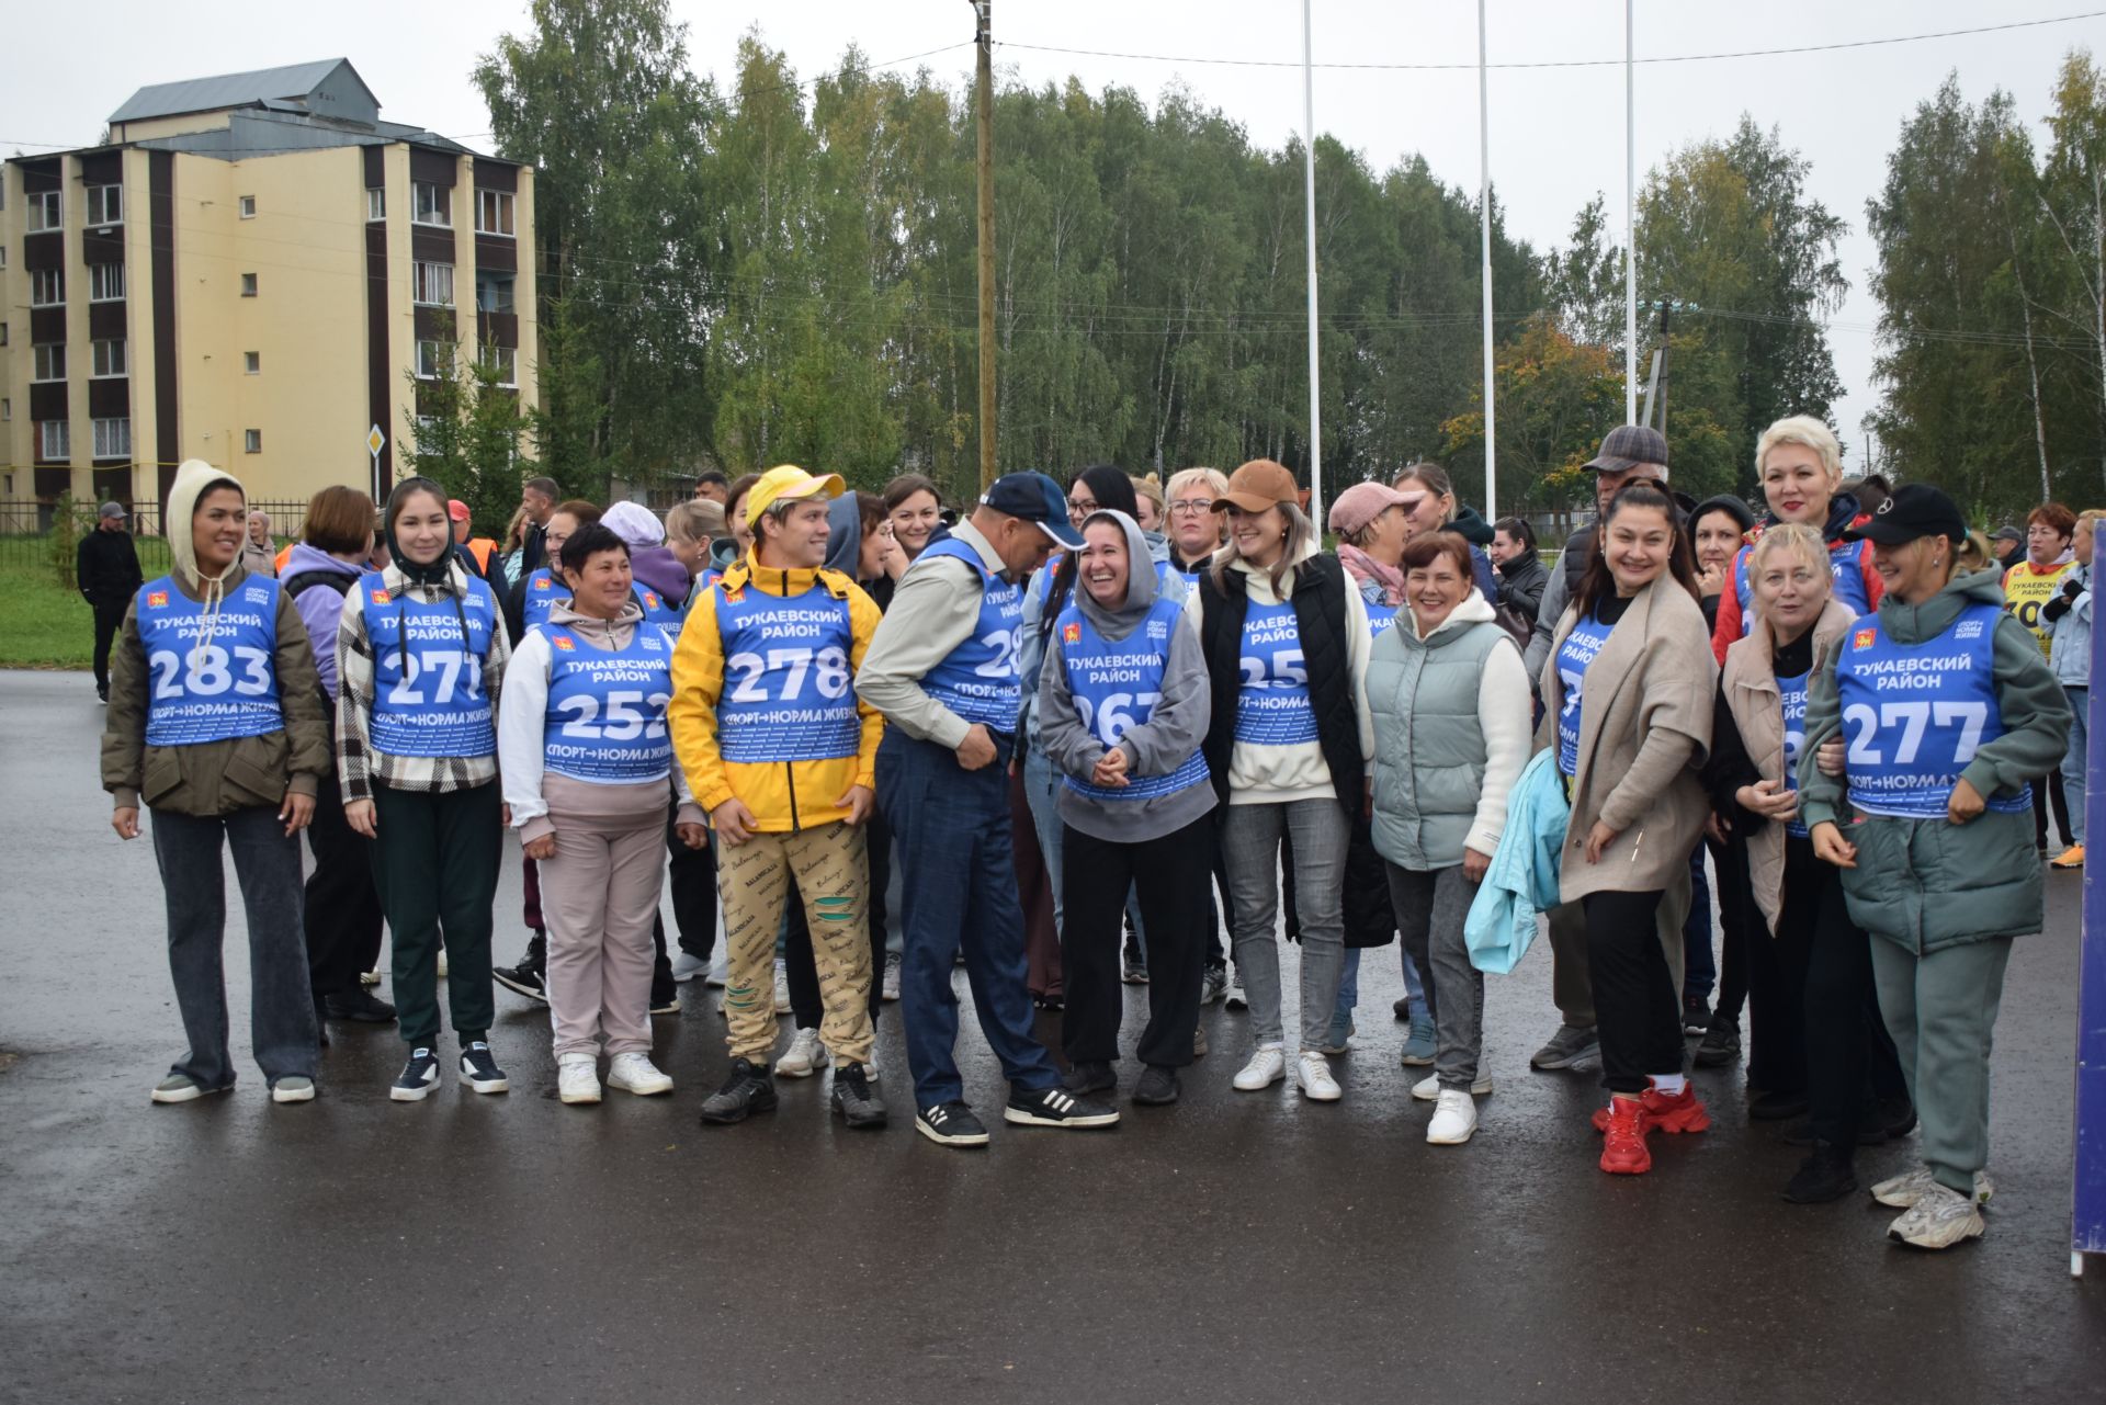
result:
[[(674, 0), (674, 11), (691, 25), (695, 67), (718, 74), (729, 70), (739, 36), (754, 25), (788, 51), (800, 76), (832, 65), (851, 42), (870, 61), (885, 61), (965, 42), (973, 32), (965, 0)], [(1872, 246), (1864, 238), (1864, 202), (1885, 177), (1902, 122), (1948, 70), (1956, 70), (1969, 101), (1994, 86), (2007, 88), (2045, 147), (2043, 118), (2055, 65), (2070, 46), (2106, 48), (2106, 15), (1788, 57), (1645, 59), (1849, 44), (2081, 11), (2081, 0), (1638, 2), (1641, 181), (1666, 152), (1727, 135), (1737, 116), (1750, 112), (1765, 126), (1780, 126), (1786, 145), (1811, 158), (1813, 198), (1849, 221), (1843, 268), (1851, 295), (1830, 326), (1830, 343), (1845, 385), (1836, 423), (1853, 459), (1862, 447), (1860, 419), (1876, 404), (1870, 369), (1879, 308), (1866, 291)], [(524, 17), (526, 6), (518, 0), (364, 0), (350, 8), (118, 0), (97, 13), (88, 61), (78, 13), (15, 6), (6, 44), (17, 63), (0, 84), (0, 152), (86, 145), (101, 135), (103, 118), (141, 84), (335, 55), (358, 65), (383, 116), (486, 147), (489, 114), (470, 84), (470, 70), (497, 34), (520, 29)], [(1314, 29), (1318, 63), (1476, 61), (1476, 11), (1466, 0), (1314, 0)], [(1192, 61), (1299, 61), (1299, 0), (996, 0), (994, 34), (1002, 72), (1032, 84), (1074, 74), (1091, 88), (1125, 84), (1154, 97), (1165, 84), (1184, 82), (1243, 122), (1255, 143), (1278, 145), (1302, 126), (1297, 67)], [(1026, 44), (1184, 61), (1045, 53)], [(1489, 51), (1493, 63), (1620, 61), (1624, 6), (1620, 0), (1491, 0)], [(939, 78), (965, 82), (971, 59), (971, 48), (956, 48), (927, 63)], [(1466, 187), (1478, 181), (1474, 67), (1318, 72), (1316, 124), (1363, 150), (1377, 171), (1424, 152), (1445, 181)], [(1537, 249), (1561, 242), (1573, 213), (1596, 190), (1609, 192), (1611, 209), (1620, 211), (1622, 65), (1493, 72), (1491, 162), (1510, 234)], [(1668, 428), (1672, 434), (1672, 423)]]

